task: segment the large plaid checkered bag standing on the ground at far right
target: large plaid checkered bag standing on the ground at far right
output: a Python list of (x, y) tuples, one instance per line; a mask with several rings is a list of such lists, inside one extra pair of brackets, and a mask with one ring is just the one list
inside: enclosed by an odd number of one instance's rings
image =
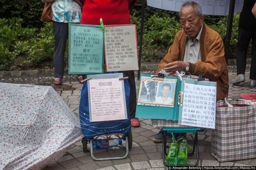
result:
[(256, 158), (256, 105), (228, 99), (216, 103), (211, 154), (220, 162)]

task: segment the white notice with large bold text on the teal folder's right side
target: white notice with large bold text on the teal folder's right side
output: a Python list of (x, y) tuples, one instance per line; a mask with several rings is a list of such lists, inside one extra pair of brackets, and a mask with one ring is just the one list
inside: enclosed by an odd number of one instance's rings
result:
[(184, 84), (182, 125), (215, 129), (216, 86)]

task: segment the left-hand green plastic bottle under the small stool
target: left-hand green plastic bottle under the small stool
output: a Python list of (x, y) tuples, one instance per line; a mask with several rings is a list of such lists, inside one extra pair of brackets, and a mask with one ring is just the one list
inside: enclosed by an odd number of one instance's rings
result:
[(169, 145), (169, 151), (166, 156), (166, 162), (168, 165), (177, 165), (177, 155), (178, 155), (179, 144), (172, 134), (172, 142)]

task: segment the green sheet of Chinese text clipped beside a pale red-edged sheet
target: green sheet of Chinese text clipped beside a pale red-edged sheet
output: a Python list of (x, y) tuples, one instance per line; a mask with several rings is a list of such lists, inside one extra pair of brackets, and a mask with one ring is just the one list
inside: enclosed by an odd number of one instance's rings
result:
[(104, 36), (98, 25), (68, 24), (68, 74), (104, 72)]

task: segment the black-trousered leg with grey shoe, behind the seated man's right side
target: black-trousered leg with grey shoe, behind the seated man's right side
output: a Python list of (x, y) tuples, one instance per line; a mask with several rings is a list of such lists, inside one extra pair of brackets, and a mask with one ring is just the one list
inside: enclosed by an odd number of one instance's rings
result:
[(245, 81), (245, 66), (248, 45), (251, 41), (252, 33), (244, 29), (238, 29), (238, 41), (235, 49), (235, 56), (237, 61), (237, 78), (232, 80), (232, 84), (239, 84)]

